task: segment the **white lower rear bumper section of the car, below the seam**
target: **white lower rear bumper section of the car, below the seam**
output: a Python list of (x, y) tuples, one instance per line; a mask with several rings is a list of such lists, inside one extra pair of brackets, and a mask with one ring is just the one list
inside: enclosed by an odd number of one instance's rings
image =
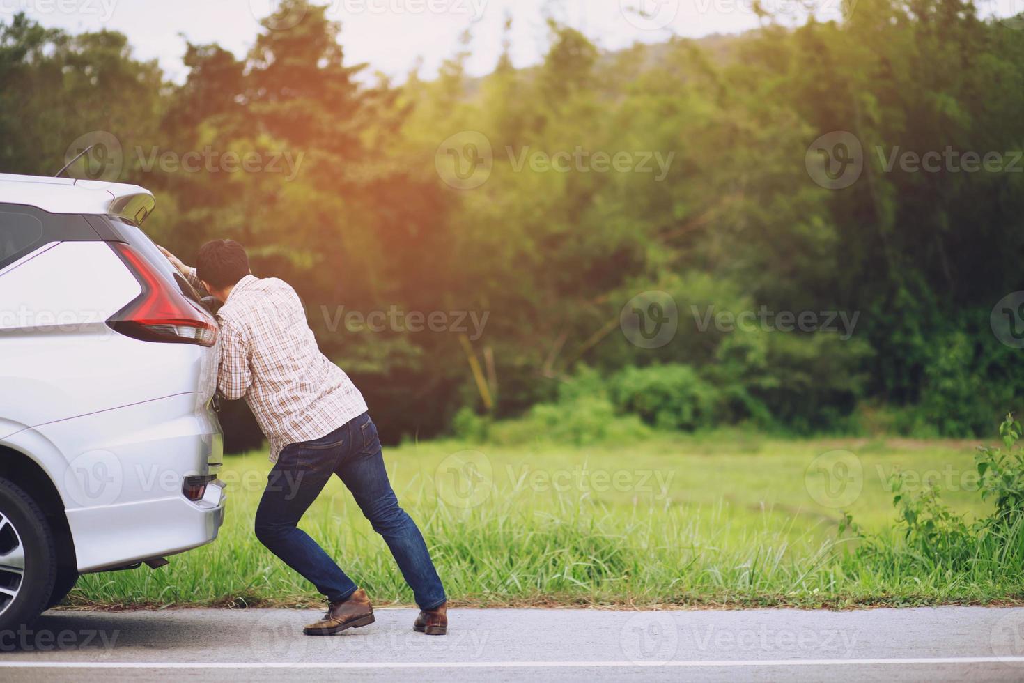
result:
[(185, 482), (215, 477), (220, 424), (201, 393), (39, 425), (5, 442), (32, 454), (65, 503), (80, 572), (100, 571), (210, 543), (224, 519), (224, 484), (200, 500)]

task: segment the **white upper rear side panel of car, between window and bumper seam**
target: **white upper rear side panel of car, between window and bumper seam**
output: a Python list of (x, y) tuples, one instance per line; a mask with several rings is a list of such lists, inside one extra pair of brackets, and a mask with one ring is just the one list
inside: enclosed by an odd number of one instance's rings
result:
[(103, 242), (61, 243), (0, 275), (0, 416), (32, 426), (194, 391), (212, 398), (217, 347), (106, 326), (140, 291)]

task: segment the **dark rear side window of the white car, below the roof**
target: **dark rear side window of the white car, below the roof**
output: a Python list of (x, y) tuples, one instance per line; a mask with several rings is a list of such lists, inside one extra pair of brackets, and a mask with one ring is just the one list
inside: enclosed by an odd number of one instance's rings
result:
[(98, 241), (82, 216), (0, 204), (0, 269), (51, 242)]

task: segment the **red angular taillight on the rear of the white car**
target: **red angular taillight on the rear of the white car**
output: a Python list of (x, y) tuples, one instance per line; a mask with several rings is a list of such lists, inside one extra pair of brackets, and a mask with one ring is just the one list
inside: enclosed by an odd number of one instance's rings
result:
[(112, 242), (111, 248), (142, 286), (142, 293), (106, 321), (112, 329), (134, 339), (213, 346), (217, 323), (193, 305), (130, 246)]

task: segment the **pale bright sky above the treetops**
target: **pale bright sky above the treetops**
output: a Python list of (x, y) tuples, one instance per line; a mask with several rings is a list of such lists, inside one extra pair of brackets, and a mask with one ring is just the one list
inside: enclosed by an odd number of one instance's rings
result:
[[(841, 0), (762, 0), (783, 18), (803, 15), (813, 3), (820, 18), (841, 15)], [(517, 67), (537, 63), (548, 45), (545, 17), (581, 29), (605, 49), (634, 42), (739, 33), (758, 26), (751, 0), (319, 0), (328, 16), (341, 22), (341, 44), (348, 63), (368, 62), (401, 81), (422, 60), (431, 78), (459, 50), (470, 30), (468, 70), (488, 73), (502, 49), (506, 15), (513, 19), (512, 57)], [(1000, 15), (1020, 11), (1024, 0), (984, 0)], [(1007, 7), (1000, 6), (1006, 4)], [(167, 77), (181, 82), (185, 41), (219, 43), (242, 56), (278, 0), (0, 0), (0, 20), (25, 11), (43, 26), (71, 32), (111, 29), (126, 34), (135, 56), (158, 59)], [(856, 11), (856, 2), (852, 4)], [(298, 17), (296, 17), (298, 18)], [(287, 30), (287, 26), (279, 30)]]

